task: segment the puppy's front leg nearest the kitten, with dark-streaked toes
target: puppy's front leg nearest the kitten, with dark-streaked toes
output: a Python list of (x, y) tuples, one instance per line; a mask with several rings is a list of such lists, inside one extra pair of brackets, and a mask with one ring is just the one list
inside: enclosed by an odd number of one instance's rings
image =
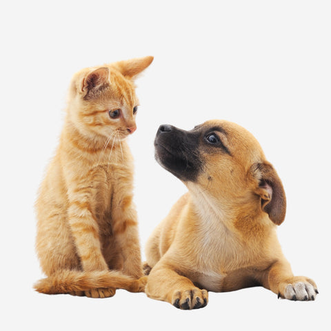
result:
[(208, 303), (207, 290), (194, 286), (190, 279), (178, 274), (172, 265), (161, 262), (152, 268), (145, 292), (152, 299), (168, 301), (176, 308), (197, 309)]

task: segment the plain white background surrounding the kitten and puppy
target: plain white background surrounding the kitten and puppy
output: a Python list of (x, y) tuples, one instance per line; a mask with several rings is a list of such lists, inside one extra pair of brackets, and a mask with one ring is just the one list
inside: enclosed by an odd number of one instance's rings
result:
[[(9, 4), (10, 3), (10, 4)], [(55, 4), (56, 3), (56, 4)], [(3, 330), (330, 330), (329, 1), (7, 1), (1, 5), (1, 295)], [(279, 240), (314, 302), (263, 288), (210, 293), (181, 311), (146, 294), (37, 294), (33, 204), (57, 146), (74, 72), (153, 55), (137, 81), (130, 137), (141, 245), (185, 192), (154, 161), (161, 123), (228, 119), (250, 130), (288, 197)], [(328, 310), (327, 310), (328, 308)], [(314, 329), (314, 327), (317, 327)]]

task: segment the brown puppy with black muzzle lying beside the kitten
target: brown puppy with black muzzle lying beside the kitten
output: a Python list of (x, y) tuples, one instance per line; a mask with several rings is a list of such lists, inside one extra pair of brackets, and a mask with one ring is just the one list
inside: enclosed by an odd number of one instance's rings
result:
[(154, 145), (189, 192), (148, 239), (148, 297), (192, 309), (207, 304), (208, 290), (262, 285), (285, 299), (315, 299), (314, 281), (294, 277), (281, 252), (285, 192), (250, 132), (228, 121), (191, 131), (165, 125)]

